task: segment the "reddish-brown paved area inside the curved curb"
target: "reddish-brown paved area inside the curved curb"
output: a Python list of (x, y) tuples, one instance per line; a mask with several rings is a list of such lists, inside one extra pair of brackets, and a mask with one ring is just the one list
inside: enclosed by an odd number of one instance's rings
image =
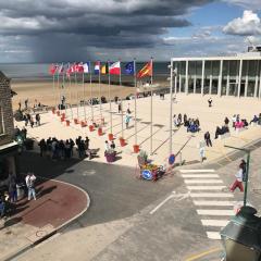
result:
[(22, 223), (36, 227), (51, 224), (57, 228), (86, 209), (86, 194), (76, 187), (55, 181), (40, 182), (36, 187), (37, 200), (28, 201), (26, 197), (18, 201), (21, 212), (13, 217), (22, 217)]

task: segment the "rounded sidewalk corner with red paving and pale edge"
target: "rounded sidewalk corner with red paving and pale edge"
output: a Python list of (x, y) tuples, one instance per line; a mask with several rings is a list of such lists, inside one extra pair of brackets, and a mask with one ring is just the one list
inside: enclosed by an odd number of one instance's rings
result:
[(25, 197), (11, 216), (0, 220), (0, 260), (37, 245), (88, 209), (89, 197), (84, 190), (53, 179), (37, 181), (37, 200)]

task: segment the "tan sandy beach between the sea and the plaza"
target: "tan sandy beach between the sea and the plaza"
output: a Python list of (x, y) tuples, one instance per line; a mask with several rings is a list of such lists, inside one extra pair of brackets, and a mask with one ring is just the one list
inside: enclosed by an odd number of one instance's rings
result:
[[(60, 85), (62, 86), (62, 85)], [(101, 96), (109, 99), (109, 85), (101, 84)], [(33, 107), (35, 103), (41, 103), (45, 105), (54, 105), (61, 103), (61, 96), (66, 97), (66, 103), (76, 104), (77, 101), (88, 100), (91, 96), (99, 97), (99, 84), (94, 83), (90, 88), (89, 83), (79, 83), (78, 85), (66, 83), (64, 88), (58, 88), (55, 83), (54, 88), (51, 80), (14, 80), (11, 82), (11, 88), (17, 95), (13, 97), (13, 110), (18, 109), (18, 102), (21, 101), (22, 108), (24, 101), (28, 99), (28, 105)], [(92, 89), (92, 90), (91, 90)], [(115, 96), (125, 98), (126, 96), (135, 94), (135, 88), (129, 86), (111, 85), (110, 96), (113, 99)]]

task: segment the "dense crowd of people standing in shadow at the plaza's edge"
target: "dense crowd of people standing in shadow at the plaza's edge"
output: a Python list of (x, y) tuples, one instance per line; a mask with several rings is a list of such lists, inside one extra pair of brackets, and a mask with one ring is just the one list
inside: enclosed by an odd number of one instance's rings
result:
[(66, 140), (59, 140), (55, 137), (49, 137), (47, 140), (41, 139), (38, 144), (38, 146), (40, 147), (40, 156), (50, 157), (52, 160), (71, 159), (73, 157), (75, 145), (77, 147), (79, 159), (83, 159), (85, 157), (91, 158), (88, 137), (83, 139), (82, 136), (78, 136), (75, 141), (72, 138)]

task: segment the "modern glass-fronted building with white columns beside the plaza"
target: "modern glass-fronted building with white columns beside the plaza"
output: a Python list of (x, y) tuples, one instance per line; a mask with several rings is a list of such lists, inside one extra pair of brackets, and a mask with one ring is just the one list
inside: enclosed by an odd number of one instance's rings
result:
[(173, 58), (174, 91), (261, 98), (261, 53)]

